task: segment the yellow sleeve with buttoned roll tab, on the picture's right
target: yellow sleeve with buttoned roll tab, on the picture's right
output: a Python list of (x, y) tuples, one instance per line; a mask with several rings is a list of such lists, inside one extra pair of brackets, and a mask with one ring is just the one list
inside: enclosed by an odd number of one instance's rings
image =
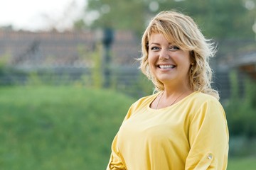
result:
[(228, 125), (218, 101), (203, 103), (191, 117), (188, 134), (191, 149), (186, 159), (186, 170), (227, 168)]

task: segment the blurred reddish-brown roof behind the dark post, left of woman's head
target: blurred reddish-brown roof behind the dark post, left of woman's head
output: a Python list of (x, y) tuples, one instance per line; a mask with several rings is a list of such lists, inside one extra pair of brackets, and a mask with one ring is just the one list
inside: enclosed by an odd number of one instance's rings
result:
[[(19, 67), (90, 67), (100, 42), (97, 33), (0, 30), (0, 57), (9, 55), (9, 64)], [(114, 64), (132, 64), (139, 57), (137, 37), (131, 31), (115, 31), (110, 54)]]

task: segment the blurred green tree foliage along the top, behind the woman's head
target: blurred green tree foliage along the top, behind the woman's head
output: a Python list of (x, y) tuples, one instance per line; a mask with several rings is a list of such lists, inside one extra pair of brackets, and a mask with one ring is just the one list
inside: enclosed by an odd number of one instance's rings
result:
[[(195, 18), (208, 37), (252, 38), (252, 25), (255, 22), (256, 4), (246, 8), (245, 0), (193, 0), (193, 1), (110, 1), (88, 0), (86, 13), (97, 13), (99, 17), (91, 27), (111, 26), (116, 29), (132, 29), (142, 34), (145, 21), (159, 11), (175, 8)], [(152, 8), (153, 7), (153, 8)]]

